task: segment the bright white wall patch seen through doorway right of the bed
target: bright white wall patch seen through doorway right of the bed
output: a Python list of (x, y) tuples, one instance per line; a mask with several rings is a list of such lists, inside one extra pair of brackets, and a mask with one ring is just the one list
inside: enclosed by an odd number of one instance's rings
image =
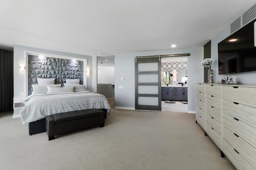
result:
[(98, 84), (115, 84), (115, 68), (98, 66)]

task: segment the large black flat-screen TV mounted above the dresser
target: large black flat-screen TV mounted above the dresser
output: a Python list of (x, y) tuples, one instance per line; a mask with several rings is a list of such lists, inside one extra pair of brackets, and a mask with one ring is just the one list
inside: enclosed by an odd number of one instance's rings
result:
[(219, 74), (256, 71), (255, 21), (218, 43)]

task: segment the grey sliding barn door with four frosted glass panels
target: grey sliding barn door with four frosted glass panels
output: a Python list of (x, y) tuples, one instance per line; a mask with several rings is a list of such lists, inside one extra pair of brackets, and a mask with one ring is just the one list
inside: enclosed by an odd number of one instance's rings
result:
[(160, 57), (135, 59), (135, 109), (161, 111)]

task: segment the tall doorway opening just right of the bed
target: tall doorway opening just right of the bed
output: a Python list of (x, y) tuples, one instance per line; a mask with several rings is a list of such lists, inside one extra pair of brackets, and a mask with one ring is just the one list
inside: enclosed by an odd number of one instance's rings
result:
[(97, 56), (97, 93), (104, 95), (114, 108), (115, 56)]

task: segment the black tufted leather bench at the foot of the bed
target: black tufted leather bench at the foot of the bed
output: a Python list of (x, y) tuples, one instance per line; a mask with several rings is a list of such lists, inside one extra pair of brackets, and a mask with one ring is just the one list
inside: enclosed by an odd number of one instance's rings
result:
[(104, 127), (105, 112), (100, 109), (68, 111), (46, 116), (46, 133), (49, 141), (55, 135), (80, 131), (89, 127)]

